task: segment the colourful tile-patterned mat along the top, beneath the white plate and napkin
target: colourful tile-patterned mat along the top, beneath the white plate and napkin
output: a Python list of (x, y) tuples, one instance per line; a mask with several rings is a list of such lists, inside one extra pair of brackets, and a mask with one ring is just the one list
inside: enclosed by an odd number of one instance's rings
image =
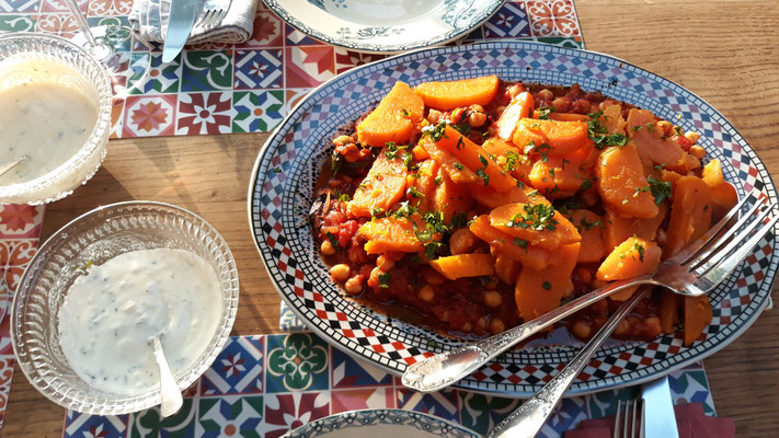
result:
[[(91, 26), (128, 25), (133, 0), (78, 3)], [(70, 37), (78, 25), (64, 0), (0, 0), (0, 33), (19, 31)], [(454, 44), (482, 38), (525, 38), (583, 47), (573, 0), (506, 1), (490, 20)], [(131, 99), (116, 102), (118, 114), (112, 119), (111, 138), (271, 131), (312, 88), (383, 57), (316, 41), (285, 24), (262, 2), (254, 33), (241, 45), (190, 46), (174, 61), (162, 65), (161, 45), (146, 47), (128, 33), (121, 50), (133, 73), (114, 78), (114, 82), (127, 87), (130, 97), (142, 96), (145, 106)], [(224, 94), (209, 94), (214, 92)], [(216, 96), (219, 104), (209, 104), (207, 99)], [(205, 99), (203, 103), (201, 99)], [(203, 114), (186, 113), (195, 110)], [(177, 117), (187, 115), (186, 120), (176, 123)]]

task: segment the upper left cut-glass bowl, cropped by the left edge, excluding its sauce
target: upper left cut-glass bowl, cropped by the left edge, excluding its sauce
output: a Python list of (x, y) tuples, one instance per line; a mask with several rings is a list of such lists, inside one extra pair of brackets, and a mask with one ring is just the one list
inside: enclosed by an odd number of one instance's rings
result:
[[(71, 194), (98, 172), (103, 162), (111, 130), (111, 80), (96, 59), (68, 39), (44, 34), (13, 33), (0, 35), (0, 64), (3, 60), (46, 59), (61, 62), (78, 74), (64, 74), (57, 81), (79, 89), (98, 107), (98, 123), (87, 142), (73, 157), (53, 171), (24, 183), (0, 185), (0, 203), (45, 204)], [(34, 82), (42, 78), (33, 71), (13, 70), (0, 74), (0, 87), (10, 83)]]

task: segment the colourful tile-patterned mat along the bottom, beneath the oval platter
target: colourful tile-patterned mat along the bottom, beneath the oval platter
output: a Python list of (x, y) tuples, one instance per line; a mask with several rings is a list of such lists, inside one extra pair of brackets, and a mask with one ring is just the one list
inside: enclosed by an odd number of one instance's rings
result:
[[(702, 366), (675, 371), (669, 379), (675, 403), (702, 401), (713, 415)], [(0, 379), (0, 388), (3, 384)], [(626, 388), (565, 399), (539, 437), (560, 437), (582, 419), (610, 415), (618, 400), (639, 391)], [(106, 417), (68, 412), (64, 437), (279, 437), (313, 419), (365, 408), (424, 412), (482, 435), (519, 403), (460, 390), (411, 391), (311, 333), (237, 336), (185, 393), (184, 408), (175, 416), (162, 419), (157, 408)]]

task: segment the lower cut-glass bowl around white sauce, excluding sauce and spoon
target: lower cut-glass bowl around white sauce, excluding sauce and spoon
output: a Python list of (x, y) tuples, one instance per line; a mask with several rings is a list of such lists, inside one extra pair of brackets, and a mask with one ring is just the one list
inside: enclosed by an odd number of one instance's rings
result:
[(221, 286), (221, 318), (208, 346), (183, 372), (188, 388), (214, 362), (230, 335), (238, 310), (238, 269), (221, 235), (203, 218), (153, 201), (96, 208), (62, 227), (44, 243), (20, 281), (11, 307), (11, 338), (20, 368), (41, 393), (69, 410), (116, 415), (160, 404), (159, 385), (129, 396), (90, 387), (71, 369), (59, 343), (59, 309), (80, 269), (119, 254), (151, 249), (187, 250), (208, 262)]

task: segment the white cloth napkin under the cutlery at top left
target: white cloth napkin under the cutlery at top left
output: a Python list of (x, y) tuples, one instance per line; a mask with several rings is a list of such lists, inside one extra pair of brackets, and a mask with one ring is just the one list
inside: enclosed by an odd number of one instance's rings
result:
[[(197, 10), (203, 10), (205, 0), (175, 0), (196, 1)], [(249, 39), (254, 27), (254, 11), (257, 0), (221, 0), (230, 9), (221, 24), (208, 30), (192, 27), (187, 44), (198, 43), (228, 43), (240, 44)], [(162, 43), (168, 33), (168, 15), (171, 0), (136, 0), (128, 16), (133, 33), (147, 46), (151, 42)], [(195, 19), (197, 23), (198, 18)]]

